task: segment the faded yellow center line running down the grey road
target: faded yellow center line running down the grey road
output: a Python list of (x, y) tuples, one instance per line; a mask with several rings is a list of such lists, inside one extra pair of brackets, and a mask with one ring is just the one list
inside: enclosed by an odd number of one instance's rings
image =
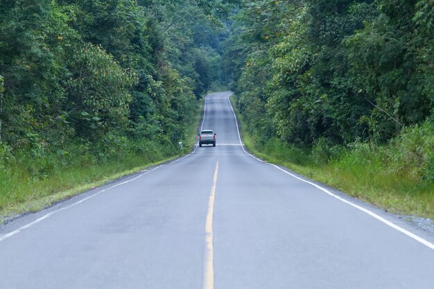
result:
[(214, 241), (212, 233), (212, 223), (214, 216), (214, 200), (216, 198), (216, 184), (218, 175), (218, 161), (214, 180), (209, 195), (207, 220), (205, 221), (205, 261), (203, 272), (203, 289), (214, 289)]

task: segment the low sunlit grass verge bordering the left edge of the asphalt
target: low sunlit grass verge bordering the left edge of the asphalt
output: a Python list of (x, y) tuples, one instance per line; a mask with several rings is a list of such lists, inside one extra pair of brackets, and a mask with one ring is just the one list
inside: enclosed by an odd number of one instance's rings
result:
[(144, 161), (142, 157), (145, 156), (130, 156), (124, 163), (107, 161), (88, 167), (70, 164), (42, 179), (29, 175), (25, 167), (10, 168), (6, 174), (8, 179), (4, 175), (0, 177), (0, 223), (21, 213), (40, 211), (55, 202), (89, 191), (94, 186), (102, 186), (177, 156), (156, 158), (157, 161), (149, 158)]

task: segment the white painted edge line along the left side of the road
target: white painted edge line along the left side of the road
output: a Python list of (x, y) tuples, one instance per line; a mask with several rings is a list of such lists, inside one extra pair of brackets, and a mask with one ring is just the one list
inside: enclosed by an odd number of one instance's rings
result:
[[(206, 114), (206, 112), (207, 112), (207, 96), (205, 96), (205, 105), (204, 105), (203, 120), (202, 120), (202, 126), (201, 126), (200, 130), (202, 130), (202, 128), (203, 128), (203, 124), (205, 123), (205, 114)], [(238, 135), (239, 135), (239, 134), (238, 134)], [(189, 157), (189, 156), (192, 155), (194, 152), (196, 152), (196, 149), (197, 149), (197, 148), (198, 148), (198, 146), (196, 145), (196, 148), (193, 150), (193, 152), (190, 152), (188, 155), (185, 155), (184, 157), (181, 157), (181, 158), (179, 158), (179, 159), (175, 159), (175, 161), (168, 162), (167, 164), (174, 164), (175, 162), (180, 161), (181, 159), (185, 159), (186, 157)], [(68, 205), (67, 207), (62, 207), (62, 208), (57, 209), (57, 210), (55, 210), (55, 211), (52, 211), (52, 212), (50, 212), (50, 213), (46, 213), (46, 214), (45, 214), (44, 216), (42, 216), (41, 218), (37, 218), (37, 219), (34, 220), (33, 222), (30, 222), (30, 223), (28, 223), (27, 225), (24, 225), (24, 226), (22, 226), (22, 227), (19, 227), (19, 228), (16, 229), (15, 231), (11, 231), (11, 232), (8, 233), (8, 234), (5, 234), (5, 235), (3, 235), (3, 236), (0, 236), (0, 242), (3, 241), (3, 240), (6, 240), (7, 238), (10, 238), (10, 237), (14, 236), (15, 234), (18, 234), (19, 232), (21, 232), (21, 231), (24, 230), (24, 229), (27, 229), (27, 228), (29, 228), (29, 227), (32, 227), (33, 225), (37, 224), (38, 222), (41, 222), (42, 220), (45, 220), (46, 218), (49, 218), (50, 216), (52, 216), (52, 215), (55, 214), (55, 213), (58, 213), (59, 211), (62, 211), (62, 210), (64, 210), (64, 209), (69, 209), (70, 207), (73, 207), (73, 206), (75, 206), (76, 204), (80, 204), (80, 203), (82, 203), (82, 202), (85, 202), (86, 200), (89, 200), (89, 199), (91, 199), (91, 198), (94, 198), (96, 195), (99, 195), (100, 193), (103, 193), (103, 192), (108, 191), (108, 190), (110, 190), (110, 189), (116, 188), (116, 186), (121, 186), (121, 185), (123, 185), (123, 184), (127, 184), (127, 183), (132, 182), (132, 181), (134, 181), (134, 180), (136, 180), (136, 179), (139, 179), (139, 177), (142, 177), (142, 176), (144, 176), (144, 175), (146, 175), (146, 174), (148, 174), (148, 173), (150, 173), (150, 172), (153, 172), (154, 170), (157, 170), (157, 168), (161, 168), (162, 166), (165, 166), (165, 165), (166, 165), (166, 164), (162, 164), (162, 165), (160, 165), (160, 166), (157, 166), (157, 167), (153, 168), (152, 170), (147, 170), (145, 173), (142, 173), (142, 174), (138, 175), (137, 177), (134, 177), (134, 178), (132, 178), (132, 179), (128, 179), (128, 180), (125, 181), (125, 182), (121, 182), (121, 183), (119, 183), (119, 184), (115, 184), (114, 186), (110, 186), (110, 187), (107, 188), (107, 189), (103, 189), (103, 190), (101, 190), (101, 191), (98, 191), (98, 192), (94, 193), (93, 195), (89, 195), (89, 197), (87, 197), (87, 198), (84, 198), (84, 199), (82, 199), (82, 200), (79, 200), (78, 202), (74, 202), (73, 204)]]

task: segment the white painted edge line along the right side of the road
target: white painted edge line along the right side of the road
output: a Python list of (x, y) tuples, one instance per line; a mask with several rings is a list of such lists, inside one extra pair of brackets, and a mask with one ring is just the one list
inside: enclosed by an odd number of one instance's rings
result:
[[(229, 97), (231, 95), (229, 95), (227, 97), (227, 100), (229, 100)], [(236, 123), (236, 131), (238, 132), (238, 139), (240, 139), (240, 143), (241, 142), (241, 135), (240, 132), (238, 130), (238, 123), (236, 121), (236, 116), (235, 116), (235, 112), (234, 112), (234, 108), (232, 107), (232, 104), (229, 100), (229, 105), (231, 106), (232, 112), (234, 113), (234, 117), (235, 117), (235, 123)], [(250, 153), (246, 152), (243, 146), (243, 150), (246, 154), (250, 155)], [(257, 157), (254, 157), (253, 155), (250, 155), (250, 157), (253, 157), (254, 159), (257, 159), (258, 161), (264, 162), (261, 159), (258, 159)], [(330, 195), (333, 198), (336, 198), (337, 200), (340, 200), (341, 202), (345, 202), (345, 204), (349, 204), (351, 207), (354, 207), (360, 211), (363, 211), (363, 213), (367, 213), (369, 216), (375, 218), (376, 220), (379, 220), (380, 222), (383, 222), (385, 225), (388, 225), (389, 227), (392, 227), (393, 229), (400, 231), (402, 234), (405, 234), (406, 236), (413, 238), (413, 240), (416, 240), (417, 242), (425, 245), (426, 247), (433, 249), (434, 250), (434, 244), (431, 242), (428, 242), (428, 240), (425, 240), (422, 237), (417, 236), (416, 234), (413, 234), (412, 232), (403, 229), (402, 227), (399, 227), (398, 225), (394, 224), (393, 222), (390, 222), (389, 220), (386, 220), (385, 218), (379, 216), (378, 214), (374, 213), (373, 211), (370, 211), (368, 209), (365, 209), (364, 207), (359, 206), (358, 204), (354, 204), (353, 202), (349, 202), (349, 200), (345, 200), (344, 198), (339, 197), (338, 195), (335, 195), (334, 193), (331, 193), (331, 191), (324, 189), (322, 186), (318, 186), (318, 184), (314, 184), (313, 182), (309, 182), (306, 181), (306, 179), (302, 179), (301, 177), (297, 177), (296, 175), (289, 173), (287, 170), (284, 170), (283, 168), (280, 168), (279, 166), (276, 166), (275, 164), (270, 164), (267, 163), (270, 166), (274, 166), (275, 168), (277, 168), (278, 170), (281, 170), (282, 172), (290, 175), (291, 177), (295, 177), (296, 179), (300, 179), (300, 181), (305, 182), (306, 184), (310, 184), (311, 186), (315, 186), (315, 188), (323, 191), (324, 193), (327, 193), (327, 195)]]

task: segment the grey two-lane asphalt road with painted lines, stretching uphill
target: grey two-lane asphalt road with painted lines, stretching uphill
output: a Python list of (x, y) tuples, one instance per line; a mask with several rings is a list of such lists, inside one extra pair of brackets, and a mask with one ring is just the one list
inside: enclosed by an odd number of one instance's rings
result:
[(228, 96), (215, 148), (0, 227), (0, 289), (434, 288), (432, 236), (248, 155)]

